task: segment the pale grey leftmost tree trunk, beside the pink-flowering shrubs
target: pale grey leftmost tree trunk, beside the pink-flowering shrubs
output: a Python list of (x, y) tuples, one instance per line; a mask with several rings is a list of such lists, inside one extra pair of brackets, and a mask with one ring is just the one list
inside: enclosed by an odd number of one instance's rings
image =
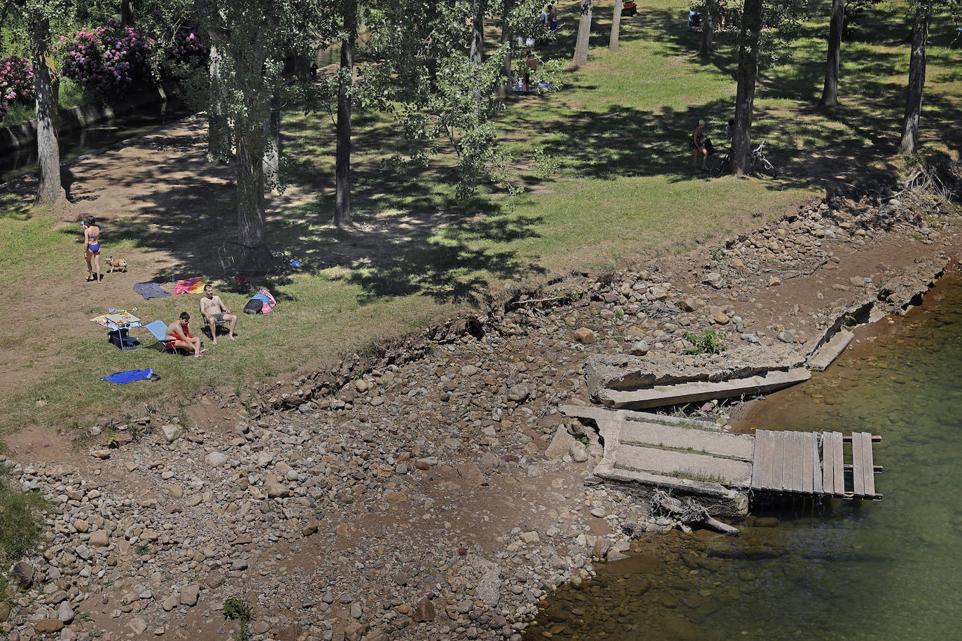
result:
[(50, 22), (36, 17), (31, 34), (34, 93), (37, 96), (37, 204), (53, 207), (61, 194), (57, 76), (50, 55)]

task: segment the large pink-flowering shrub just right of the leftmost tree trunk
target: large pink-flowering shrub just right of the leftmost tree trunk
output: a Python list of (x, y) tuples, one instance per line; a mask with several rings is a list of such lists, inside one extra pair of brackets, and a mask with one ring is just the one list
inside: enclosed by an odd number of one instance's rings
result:
[(64, 76), (84, 89), (114, 97), (129, 86), (152, 80), (150, 57), (156, 48), (152, 37), (120, 27), (112, 18), (106, 26), (61, 37), (54, 50)]

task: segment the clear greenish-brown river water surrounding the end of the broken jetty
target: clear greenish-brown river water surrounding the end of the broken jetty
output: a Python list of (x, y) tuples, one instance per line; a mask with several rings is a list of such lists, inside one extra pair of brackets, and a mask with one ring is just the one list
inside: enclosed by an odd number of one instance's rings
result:
[(753, 509), (737, 538), (638, 541), (632, 558), (560, 590), (525, 638), (962, 638), (960, 409), (962, 281), (946, 279), (743, 422), (881, 434), (881, 502), (799, 500)]

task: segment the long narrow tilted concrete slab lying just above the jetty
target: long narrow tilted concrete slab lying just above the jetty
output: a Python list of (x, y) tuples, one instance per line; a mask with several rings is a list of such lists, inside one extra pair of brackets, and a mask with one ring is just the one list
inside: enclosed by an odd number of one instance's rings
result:
[(665, 407), (710, 399), (730, 398), (732, 396), (762, 394), (798, 382), (808, 381), (811, 377), (810, 371), (802, 367), (796, 367), (788, 371), (773, 370), (765, 374), (722, 382), (680, 382), (668, 385), (652, 385), (651, 387), (631, 391), (601, 389), (595, 396), (596, 401), (605, 407), (633, 409)]

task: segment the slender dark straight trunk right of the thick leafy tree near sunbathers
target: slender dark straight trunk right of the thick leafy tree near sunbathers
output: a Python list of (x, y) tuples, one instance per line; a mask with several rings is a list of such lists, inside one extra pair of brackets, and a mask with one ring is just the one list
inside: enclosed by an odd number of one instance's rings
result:
[(335, 151), (334, 224), (351, 224), (351, 85), (354, 79), (354, 40), (357, 37), (357, 0), (344, 3), (341, 75), (338, 84), (338, 131)]

